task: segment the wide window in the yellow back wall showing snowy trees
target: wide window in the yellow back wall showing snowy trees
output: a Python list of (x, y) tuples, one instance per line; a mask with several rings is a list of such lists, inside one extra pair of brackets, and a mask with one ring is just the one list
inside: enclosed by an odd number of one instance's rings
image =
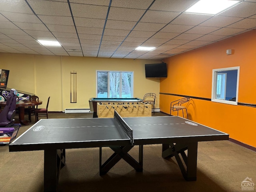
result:
[(133, 72), (96, 71), (96, 73), (98, 98), (133, 97)]

